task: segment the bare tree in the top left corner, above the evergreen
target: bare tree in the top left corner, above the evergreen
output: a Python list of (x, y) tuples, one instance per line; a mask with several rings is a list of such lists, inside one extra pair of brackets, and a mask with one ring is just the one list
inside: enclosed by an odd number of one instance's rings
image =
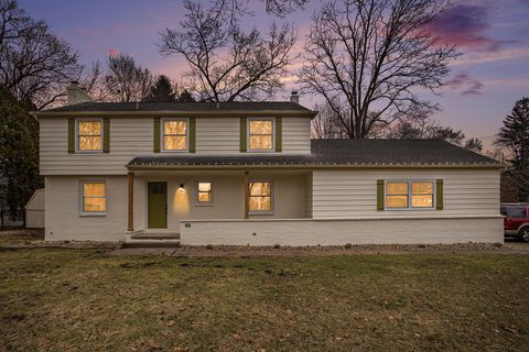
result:
[(83, 67), (69, 44), (35, 21), (14, 0), (0, 0), (0, 84), (37, 109), (64, 98)]

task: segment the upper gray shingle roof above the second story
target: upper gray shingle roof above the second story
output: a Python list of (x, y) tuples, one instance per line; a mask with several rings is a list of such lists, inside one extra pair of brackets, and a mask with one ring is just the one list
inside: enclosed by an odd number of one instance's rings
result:
[(53, 112), (130, 112), (130, 111), (262, 111), (291, 110), (311, 112), (311, 110), (291, 101), (229, 101), (229, 102), (82, 102), (42, 111)]

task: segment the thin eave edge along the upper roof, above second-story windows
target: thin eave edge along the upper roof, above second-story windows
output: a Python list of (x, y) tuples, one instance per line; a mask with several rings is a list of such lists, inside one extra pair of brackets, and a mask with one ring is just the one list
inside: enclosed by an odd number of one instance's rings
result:
[(281, 117), (300, 117), (300, 118), (311, 118), (313, 119), (317, 111), (312, 110), (149, 110), (149, 111), (126, 111), (126, 110), (118, 110), (118, 111), (31, 111), (31, 114), (39, 117), (39, 118), (60, 118), (60, 117), (94, 117), (94, 116), (115, 116), (115, 117), (201, 117), (201, 118), (209, 118), (209, 117), (241, 117), (241, 116), (281, 116)]

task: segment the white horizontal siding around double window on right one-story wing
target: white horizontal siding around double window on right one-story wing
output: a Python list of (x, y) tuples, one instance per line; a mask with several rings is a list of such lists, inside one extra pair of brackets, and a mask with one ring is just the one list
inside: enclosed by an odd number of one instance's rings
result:
[[(443, 210), (377, 211), (377, 179), (443, 179)], [(314, 170), (313, 218), (499, 215), (498, 169)]]

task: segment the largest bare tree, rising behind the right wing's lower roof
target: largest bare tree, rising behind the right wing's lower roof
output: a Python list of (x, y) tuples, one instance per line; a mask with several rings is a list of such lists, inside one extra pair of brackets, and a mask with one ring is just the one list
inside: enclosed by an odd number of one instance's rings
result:
[(322, 96), (350, 139), (364, 139), (412, 110), (438, 107), (436, 92), (458, 54), (428, 24), (445, 0), (337, 0), (313, 16), (299, 82)]

